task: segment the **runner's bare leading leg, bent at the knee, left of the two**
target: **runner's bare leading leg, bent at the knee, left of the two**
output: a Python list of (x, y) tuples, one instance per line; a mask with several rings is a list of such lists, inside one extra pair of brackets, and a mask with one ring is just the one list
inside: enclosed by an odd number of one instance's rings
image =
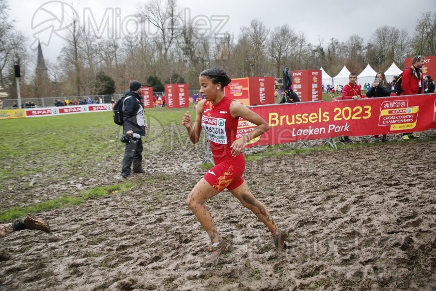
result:
[(219, 238), (212, 215), (204, 202), (216, 194), (218, 194), (218, 190), (202, 178), (187, 197), (187, 206), (197, 216), (198, 221), (204, 230), (206, 230), (212, 242), (219, 242), (221, 239)]

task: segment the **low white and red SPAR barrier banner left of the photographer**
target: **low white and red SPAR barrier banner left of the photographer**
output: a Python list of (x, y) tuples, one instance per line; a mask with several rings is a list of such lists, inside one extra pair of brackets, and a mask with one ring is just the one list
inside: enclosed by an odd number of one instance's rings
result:
[(85, 104), (49, 108), (28, 108), (26, 109), (26, 117), (54, 116), (102, 111), (112, 111), (112, 104)]

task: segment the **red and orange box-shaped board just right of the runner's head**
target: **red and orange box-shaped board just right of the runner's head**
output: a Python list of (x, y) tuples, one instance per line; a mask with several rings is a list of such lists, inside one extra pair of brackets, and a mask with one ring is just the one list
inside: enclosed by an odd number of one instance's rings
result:
[(224, 94), (244, 105), (266, 105), (274, 103), (274, 78), (249, 77), (233, 79)]

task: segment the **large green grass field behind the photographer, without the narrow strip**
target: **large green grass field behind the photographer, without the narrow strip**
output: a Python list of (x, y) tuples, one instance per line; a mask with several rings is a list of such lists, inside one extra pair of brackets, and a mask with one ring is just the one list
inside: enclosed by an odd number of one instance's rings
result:
[[(159, 129), (180, 124), (186, 111), (147, 110), (146, 122), (153, 129), (147, 138), (160, 142)], [(76, 169), (85, 157), (93, 157), (94, 162), (104, 160), (116, 152), (115, 142), (122, 146), (117, 141), (120, 134), (121, 127), (113, 123), (111, 112), (2, 120), (0, 181), (44, 171), (52, 166), (45, 163), (48, 159)]]

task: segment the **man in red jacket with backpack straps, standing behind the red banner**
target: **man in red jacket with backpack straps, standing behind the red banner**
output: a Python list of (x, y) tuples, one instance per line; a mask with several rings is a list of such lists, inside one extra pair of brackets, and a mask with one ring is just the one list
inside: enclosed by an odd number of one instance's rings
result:
[[(415, 56), (412, 59), (412, 65), (403, 71), (403, 81), (401, 89), (402, 95), (416, 95), (424, 93), (424, 78), (422, 76), (421, 68), (424, 65), (425, 57)], [(420, 138), (418, 134), (413, 132), (403, 133), (403, 139)]]

